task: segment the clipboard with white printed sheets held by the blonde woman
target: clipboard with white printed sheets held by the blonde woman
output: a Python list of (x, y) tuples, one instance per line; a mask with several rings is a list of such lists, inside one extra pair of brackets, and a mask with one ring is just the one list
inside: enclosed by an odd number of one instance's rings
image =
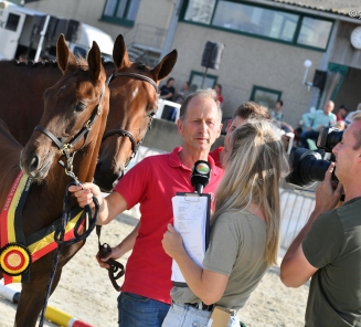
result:
[[(210, 242), (211, 194), (177, 192), (172, 198), (174, 229), (181, 234), (187, 253), (202, 266)], [(176, 261), (172, 262), (172, 283), (188, 287)]]

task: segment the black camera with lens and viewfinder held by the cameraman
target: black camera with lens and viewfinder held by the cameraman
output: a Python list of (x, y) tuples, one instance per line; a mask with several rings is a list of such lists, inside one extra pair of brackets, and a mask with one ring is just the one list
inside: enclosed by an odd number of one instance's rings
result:
[[(305, 148), (294, 147), (289, 154), (290, 173), (286, 177), (288, 183), (310, 188), (317, 181), (325, 179), (325, 172), (335, 161), (332, 152), (333, 147), (342, 139), (343, 131), (333, 127), (323, 128), (318, 136), (318, 151), (312, 151)], [(322, 159), (321, 152), (330, 152), (330, 159)], [(332, 173), (332, 180), (338, 181)]]

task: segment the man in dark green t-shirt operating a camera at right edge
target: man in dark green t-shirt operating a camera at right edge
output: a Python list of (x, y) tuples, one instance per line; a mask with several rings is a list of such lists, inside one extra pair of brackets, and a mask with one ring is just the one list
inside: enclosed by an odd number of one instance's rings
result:
[(332, 149), (336, 161), (316, 191), (315, 209), (280, 265), (287, 287), (311, 278), (305, 317), (309, 327), (361, 326), (361, 113), (352, 120)]

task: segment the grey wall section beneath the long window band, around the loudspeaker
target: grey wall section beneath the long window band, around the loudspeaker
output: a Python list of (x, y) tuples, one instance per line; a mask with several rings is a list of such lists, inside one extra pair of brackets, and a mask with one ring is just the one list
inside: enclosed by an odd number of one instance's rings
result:
[(308, 81), (312, 81), (322, 52), (179, 23), (173, 40), (179, 55), (171, 73), (176, 88), (189, 80), (191, 71), (204, 71), (201, 61), (206, 41), (225, 44), (220, 70), (208, 70), (208, 74), (219, 76), (217, 83), (223, 86), (223, 116), (232, 116), (241, 103), (249, 101), (253, 86), (257, 85), (280, 91), (285, 120), (298, 126), (301, 115), (308, 110), (311, 94), (301, 84), (304, 62), (307, 59), (312, 62), (308, 75)]

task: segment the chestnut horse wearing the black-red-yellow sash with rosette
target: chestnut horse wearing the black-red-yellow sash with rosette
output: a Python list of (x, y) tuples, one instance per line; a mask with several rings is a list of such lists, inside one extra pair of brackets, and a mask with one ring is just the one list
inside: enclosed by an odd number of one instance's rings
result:
[[(61, 35), (57, 41), (57, 62), (63, 76), (45, 91), (42, 118), (25, 147), (22, 148), (12, 137), (3, 122), (0, 124), (1, 208), (20, 171), (19, 158), (22, 171), (32, 178), (22, 210), (25, 238), (52, 225), (62, 217), (64, 191), (72, 180), (59, 165), (60, 159), (65, 160), (65, 164), (66, 159), (74, 159), (73, 172), (79, 180), (93, 179), (108, 115), (109, 89), (98, 45), (93, 42), (87, 62), (84, 59), (77, 61)], [(62, 246), (51, 292), (60, 281), (62, 267), (84, 243), (81, 241)], [(54, 251), (31, 264), (30, 283), (22, 283), (15, 326), (35, 326), (44, 303), (53, 256)]]

